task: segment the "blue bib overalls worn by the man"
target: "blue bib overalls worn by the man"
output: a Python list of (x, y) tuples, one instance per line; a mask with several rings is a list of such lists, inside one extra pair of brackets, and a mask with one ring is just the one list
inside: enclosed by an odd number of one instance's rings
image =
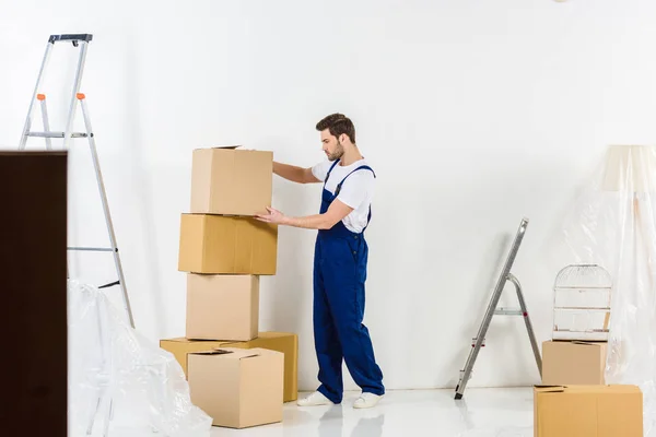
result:
[[(326, 181), (338, 162), (328, 170)], [(368, 166), (355, 168), (339, 182), (335, 194), (324, 182), (321, 214), (328, 211), (344, 180), (358, 170), (374, 173)], [(371, 215), (370, 209), (367, 225)], [(330, 229), (318, 232), (314, 261), (314, 335), (321, 382), (318, 391), (335, 403), (342, 401), (342, 359), (363, 392), (385, 393), (383, 373), (376, 364), (368, 330), (362, 323), (367, 255), (364, 229), (353, 233), (339, 221)]]

